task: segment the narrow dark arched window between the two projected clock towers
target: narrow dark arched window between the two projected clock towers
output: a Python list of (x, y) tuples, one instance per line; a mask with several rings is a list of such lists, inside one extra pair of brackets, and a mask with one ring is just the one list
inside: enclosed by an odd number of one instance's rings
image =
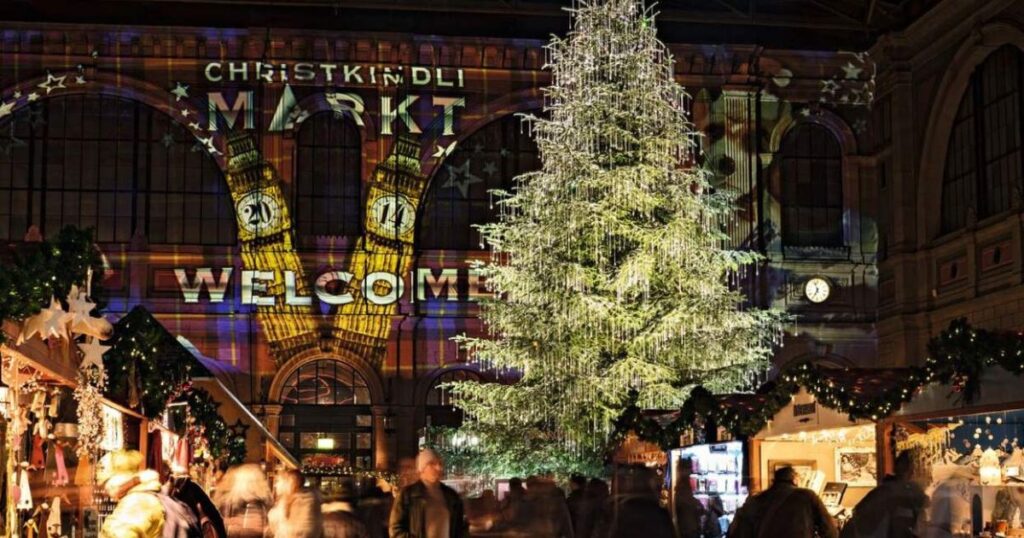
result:
[(313, 115), (298, 135), (292, 218), (305, 245), (316, 237), (360, 235), (362, 154), (359, 131), (331, 112)]

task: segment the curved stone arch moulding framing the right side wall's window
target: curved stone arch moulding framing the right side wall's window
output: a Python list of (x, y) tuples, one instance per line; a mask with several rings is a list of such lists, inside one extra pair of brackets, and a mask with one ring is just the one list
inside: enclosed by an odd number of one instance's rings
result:
[(986, 25), (965, 39), (949, 61), (928, 116), (918, 167), (918, 243), (938, 237), (942, 229), (942, 174), (949, 133), (971, 75), (989, 54), (1004, 45), (1024, 50), (1024, 31), (1007, 23)]

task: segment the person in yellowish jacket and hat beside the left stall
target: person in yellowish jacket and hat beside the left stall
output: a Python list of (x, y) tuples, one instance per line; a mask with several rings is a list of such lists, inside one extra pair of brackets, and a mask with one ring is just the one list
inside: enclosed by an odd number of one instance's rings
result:
[(164, 532), (164, 505), (155, 494), (160, 474), (142, 468), (135, 450), (112, 452), (99, 461), (96, 481), (118, 502), (103, 521), (100, 538), (160, 538)]

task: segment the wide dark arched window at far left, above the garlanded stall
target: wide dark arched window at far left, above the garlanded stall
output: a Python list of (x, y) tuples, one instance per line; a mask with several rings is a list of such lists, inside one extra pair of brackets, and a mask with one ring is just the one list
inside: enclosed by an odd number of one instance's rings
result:
[(163, 113), (110, 95), (43, 99), (0, 123), (0, 239), (74, 224), (101, 243), (231, 245), (217, 164)]

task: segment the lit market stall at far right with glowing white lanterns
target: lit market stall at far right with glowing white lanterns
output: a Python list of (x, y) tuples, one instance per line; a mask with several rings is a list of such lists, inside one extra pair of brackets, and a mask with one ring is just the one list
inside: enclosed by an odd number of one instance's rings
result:
[[(1024, 392), (999, 367), (979, 375), (964, 400), (958, 384), (932, 384), (882, 425), (885, 464), (902, 451), (931, 498), (927, 525), (953, 535), (1024, 536)], [(959, 534), (956, 534), (959, 533)]]

